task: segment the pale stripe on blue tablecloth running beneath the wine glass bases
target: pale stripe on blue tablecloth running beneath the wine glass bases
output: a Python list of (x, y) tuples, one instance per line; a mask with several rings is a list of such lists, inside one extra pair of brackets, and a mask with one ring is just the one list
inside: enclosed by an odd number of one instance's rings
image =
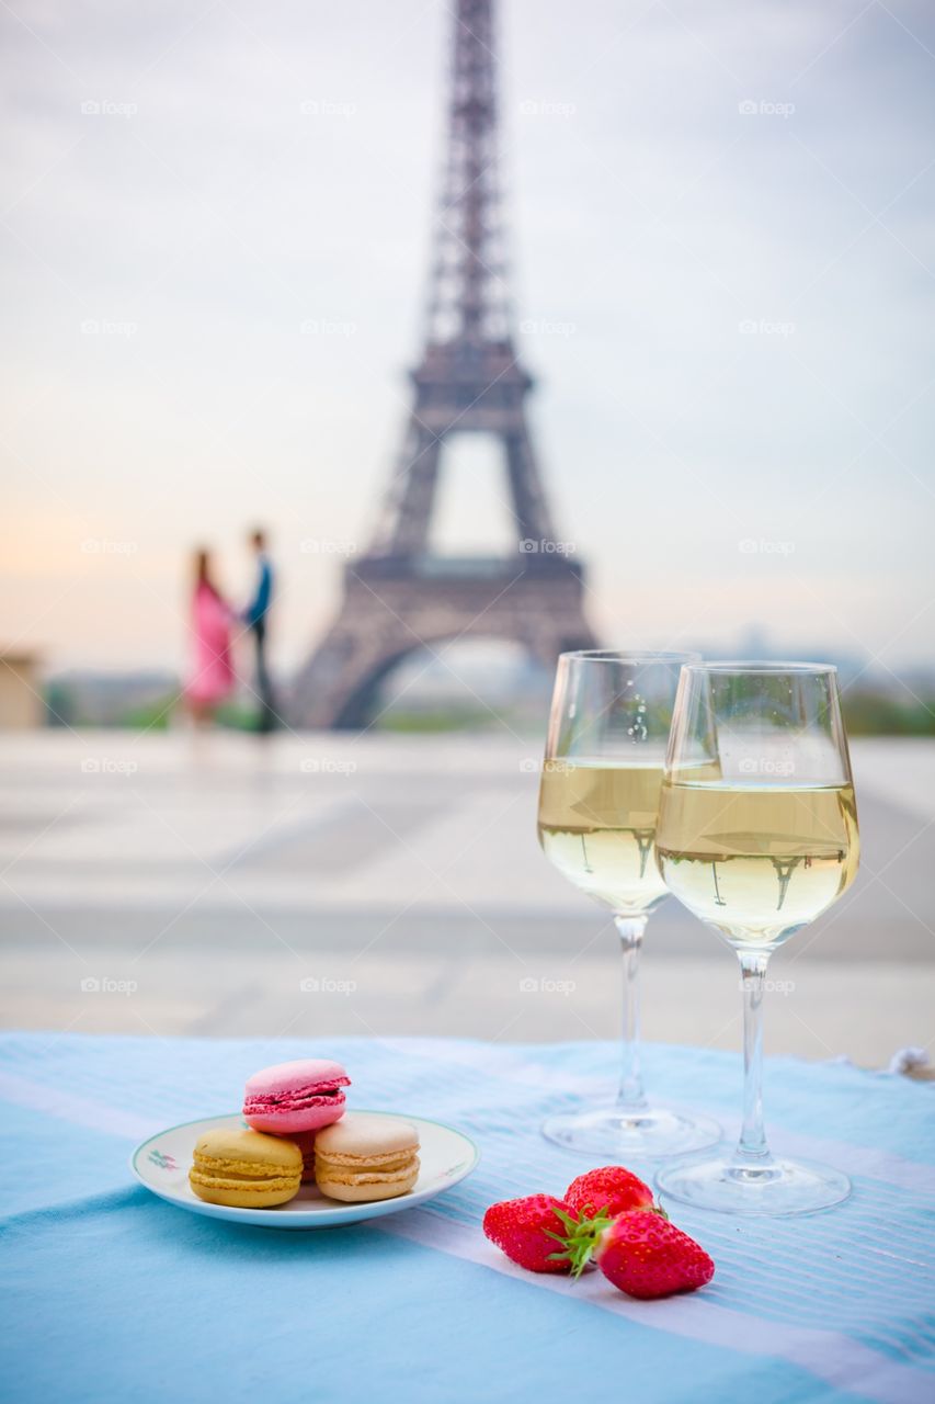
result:
[[(431, 1059), (434, 1063), (444, 1060), (445, 1063), (458, 1063), (462, 1067), (473, 1067), (479, 1073), (496, 1073), (498, 1078), (535, 1088), (539, 1094), (543, 1088), (556, 1094), (576, 1092), (583, 1101), (606, 1094), (606, 1078), (556, 1074), (549, 1064), (512, 1056), (504, 1047), (482, 1045), (475, 1049), (469, 1045), (456, 1045), (451, 1049), (446, 1047), (442, 1053), (438, 1047), (439, 1040), (434, 1039), (383, 1039), (382, 1042), (390, 1047), (397, 1046), (402, 1053)], [(740, 1095), (740, 1084), (737, 1095)], [(674, 1098), (667, 1097), (664, 1101), (667, 1106), (691, 1111), (691, 1106)], [(698, 1104), (695, 1111), (710, 1112), (710, 1106)], [(935, 1170), (921, 1161), (904, 1160), (889, 1151), (869, 1146), (854, 1146), (849, 1141), (831, 1140), (824, 1136), (802, 1136), (776, 1126), (775, 1119), (769, 1126), (769, 1141), (772, 1148), (783, 1155), (804, 1155), (809, 1160), (834, 1165), (835, 1170), (842, 1170), (849, 1175), (886, 1179), (898, 1189), (935, 1195)]]

